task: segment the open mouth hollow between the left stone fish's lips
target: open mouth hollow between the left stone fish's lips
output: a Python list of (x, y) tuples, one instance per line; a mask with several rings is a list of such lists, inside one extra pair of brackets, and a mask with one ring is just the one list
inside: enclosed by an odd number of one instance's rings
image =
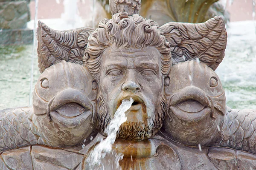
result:
[(56, 109), (55, 111), (64, 117), (76, 117), (86, 111), (91, 111), (91, 110), (86, 109), (77, 103), (67, 103), (65, 105), (62, 105), (60, 108)]

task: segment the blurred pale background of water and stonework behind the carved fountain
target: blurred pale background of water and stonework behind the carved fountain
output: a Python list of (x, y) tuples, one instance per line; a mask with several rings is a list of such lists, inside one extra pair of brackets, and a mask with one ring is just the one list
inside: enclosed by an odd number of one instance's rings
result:
[[(216, 72), (226, 91), (227, 105), (256, 109), (256, 0), (208, 0), (210, 4), (204, 5), (208, 12), (190, 15), (182, 12), (190, 6), (175, 7), (180, 17), (169, 14), (175, 0), (167, 1), (142, 0), (145, 7), (142, 5), (140, 14), (160, 25), (199, 23), (216, 14), (225, 18), (228, 44)], [(197, 0), (185, 2), (195, 5)], [(50, 28), (68, 30), (96, 28), (105, 17), (111, 17), (108, 0), (0, 0), (0, 110), (31, 104), (31, 92), (40, 75), (37, 41), (33, 40), (38, 20)]]

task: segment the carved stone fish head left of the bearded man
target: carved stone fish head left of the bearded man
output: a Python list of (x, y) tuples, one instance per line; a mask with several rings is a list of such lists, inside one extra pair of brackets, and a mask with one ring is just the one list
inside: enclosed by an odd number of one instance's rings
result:
[(86, 68), (62, 61), (47, 68), (33, 93), (33, 123), (52, 147), (81, 144), (93, 133), (96, 82)]

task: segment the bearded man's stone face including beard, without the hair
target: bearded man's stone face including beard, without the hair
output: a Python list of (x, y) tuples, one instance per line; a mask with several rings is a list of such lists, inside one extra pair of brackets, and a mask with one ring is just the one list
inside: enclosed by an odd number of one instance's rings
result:
[(120, 49), (109, 47), (102, 54), (99, 73), (99, 130), (104, 133), (123, 99), (134, 99), (125, 112), (117, 138), (143, 140), (163, 124), (165, 98), (160, 52), (154, 47)]

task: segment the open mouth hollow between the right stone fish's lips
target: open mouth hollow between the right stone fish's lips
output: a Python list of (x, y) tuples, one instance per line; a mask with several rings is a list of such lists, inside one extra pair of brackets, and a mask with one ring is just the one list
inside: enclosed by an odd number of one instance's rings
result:
[(201, 103), (199, 103), (195, 100), (186, 100), (186, 101), (178, 103), (176, 106), (180, 110), (189, 112), (189, 113), (200, 112), (205, 108), (204, 105), (202, 105)]

